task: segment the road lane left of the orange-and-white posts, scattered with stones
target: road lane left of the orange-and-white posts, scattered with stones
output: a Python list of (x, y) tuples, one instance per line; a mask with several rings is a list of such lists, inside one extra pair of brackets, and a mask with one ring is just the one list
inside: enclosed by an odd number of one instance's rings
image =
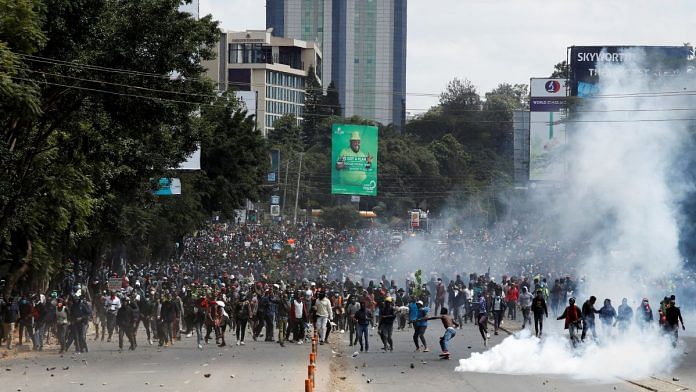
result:
[[(250, 340), (246, 346), (210, 344), (198, 350), (195, 340), (184, 338), (165, 348), (139, 346), (122, 353), (116, 343), (92, 341), (88, 354), (20, 350), (17, 357), (0, 360), (0, 391), (304, 390), (310, 345), (281, 348), (277, 343)], [(140, 341), (145, 342), (144, 336)], [(330, 351), (320, 353), (319, 363), (328, 365), (329, 356)], [(329, 367), (319, 370), (317, 385), (326, 385)]]

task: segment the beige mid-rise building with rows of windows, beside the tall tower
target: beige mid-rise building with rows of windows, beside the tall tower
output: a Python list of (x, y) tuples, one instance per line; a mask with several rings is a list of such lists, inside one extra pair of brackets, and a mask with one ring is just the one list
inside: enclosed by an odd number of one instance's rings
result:
[(252, 105), (243, 92), (256, 93), (256, 126), (264, 136), (284, 114), (302, 120), (309, 69), (321, 68), (316, 43), (275, 37), (270, 30), (247, 30), (221, 33), (215, 51), (215, 59), (203, 62), (208, 76), (220, 91), (236, 90), (247, 108)]

